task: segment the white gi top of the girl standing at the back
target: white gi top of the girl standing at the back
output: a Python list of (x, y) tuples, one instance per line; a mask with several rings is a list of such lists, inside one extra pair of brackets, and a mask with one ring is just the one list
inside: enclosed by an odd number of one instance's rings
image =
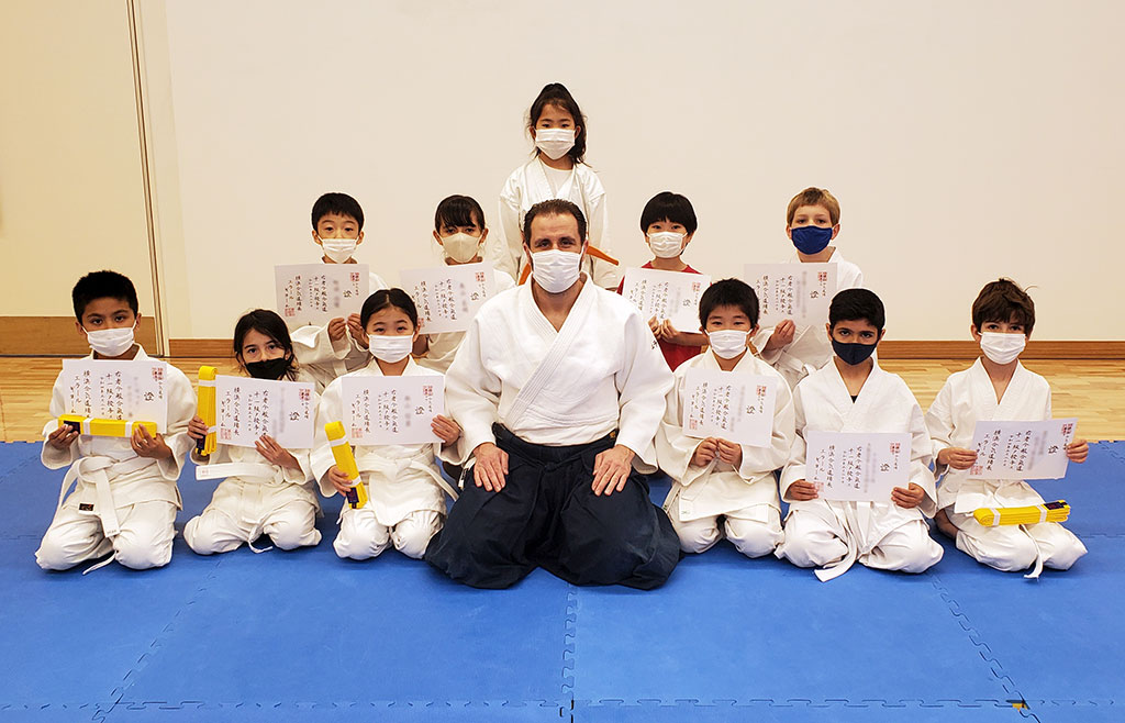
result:
[[(590, 243), (609, 255), (609, 218), (605, 210), (605, 189), (597, 173), (585, 163), (575, 163), (565, 180), (556, 186), (552, 169), (532, 159), (512, 172), (500, 192), (500, 234), (489, 235), (488, 257), (497, 269), (516, 281), (528, 265), (523, 253), (523, 217), (532, 206), (552, 198), (573, 201), (586, 217)], [(620, 266), (587, 256), (583, 262), (594, 283), (604, 289), (615, 289), (621, 281)]]

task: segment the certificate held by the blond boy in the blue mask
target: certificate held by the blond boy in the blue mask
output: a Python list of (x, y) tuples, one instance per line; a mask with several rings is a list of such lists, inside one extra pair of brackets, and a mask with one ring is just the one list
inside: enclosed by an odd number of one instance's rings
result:
[(809, 326), (828, 320), (836, 296), (835, 263), (748, 263), (742, 273), (758, 295), (758, 324), (783, 319)]

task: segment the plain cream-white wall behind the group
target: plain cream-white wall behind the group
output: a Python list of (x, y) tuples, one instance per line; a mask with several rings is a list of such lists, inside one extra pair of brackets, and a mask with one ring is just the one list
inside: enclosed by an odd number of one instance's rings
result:
[[(102, 214), (83, 191), (137, 193), (127, 173), (75, 170), (136, 123), (124, 109), (109, 114), (129, 89), (102, 88), (117, 75), (99, 71), (124, 70), (127, 37), (120, 22), (79, 15), (91, 6), (119, 7), (65, 3), (64, 25), (92, 30), (57, 47), (57, 31), (26, 31), (45, 18), (8, 21), (47, 15), (39, 3), (6, 4), (0, 16), (6, 257), (48, 266), (29, 250), (44, 234), (21, 226), (17, 235), (12, 224), (25, 205), (57, 206), (63, 184), (63, 233), (52, 237), (68, 253), (50, 268), (68, 280), (70, 265), (88, 264), (72, 240)], [(223, 338), (245, 308), (272, 306), (271, 265), (317, 257), (308, 211), (324, 191), (363, 204), (361, 260), (388, 281), (435, 263), (436, 202), (469, 193), (494, 218), (504, 179), (531, 148), (523, 114), (543, 83), (561, 81), (590, 118), (587, 157), (626, 263), (646, 259), (637, 219), (665, 189), (695, 204), (688, 261), (698, 269), (726, 275), (746, 261), (782, 260), (785, 204), (817, 184), (842, 201), (842, 253), (886, 301), (891, 338), (964, 338), (973, 297), (1000, 274), (1037, 287), (1037, 337), (1125, 338), (1115, 313), (1125, 261), (1115, 214), (1125, 172), (1117, 0), (141, 8), (172, 337)], [(44, 43), (83, 61), (60, 66), (45, 98), (34, 92), (40, 71), (29, 70), (29, 58), (54, 67), (42, 60), (51, 54), (33, 52)], [(10, 97), (28, 96), (36, 102), (10, 110)], [(91, 137), (58, 147), (75, 117)], [(34, 183), (8, 170), (24, 136), (46, 157)], [(134, 257), (138, 220), (98, 238)], [(18, 289), (32, 284), (10, 266), (0, 273)], [(3, 313), (16, 313), (8, 297)]]

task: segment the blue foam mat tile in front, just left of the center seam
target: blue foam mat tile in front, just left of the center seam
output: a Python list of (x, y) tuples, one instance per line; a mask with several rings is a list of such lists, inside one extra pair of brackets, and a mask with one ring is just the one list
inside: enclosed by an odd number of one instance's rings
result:
[(353, 562), (326, 543), (243, 549), (218, 571), (123, 701), (559, 698), (567, 585), (547, 572), (474, 590), (394, 551)]

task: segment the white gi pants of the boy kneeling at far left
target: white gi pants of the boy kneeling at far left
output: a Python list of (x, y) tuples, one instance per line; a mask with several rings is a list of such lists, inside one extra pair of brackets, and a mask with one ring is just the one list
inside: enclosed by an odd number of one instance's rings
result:
[(96, 513), (68, 501), (55, 512), (35, 561), (44, 570), (66, 570), (112, 552), (115, 560), (134, 570), (168, 564), (176, 537), (176, 505), (155, 500), (115, 509), (120, 532), (109, 539)]

